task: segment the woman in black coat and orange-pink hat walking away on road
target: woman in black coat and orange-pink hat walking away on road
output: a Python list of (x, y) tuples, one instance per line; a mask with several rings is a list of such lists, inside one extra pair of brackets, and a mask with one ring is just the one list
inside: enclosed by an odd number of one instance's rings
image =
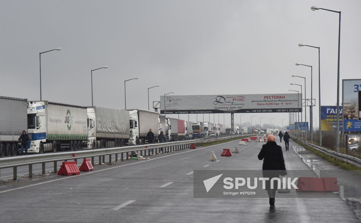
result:
[(268, 135), (267, 143), (262, 146), (258, 159), (263, 159), (262, 174), (263, 177), (269, 178), (266, 181), (266, 191), (270, 198), (270, 205), (274, 206), (275, 195), (278, 188), (277, 180), (273, 181), (273, 189), (271, 189), (271, 179), (279, 177), (279, 175), (286, 175), (286, 167), (284, 166), (284, 159), (282, 148), (277, 145), (273, 135)]

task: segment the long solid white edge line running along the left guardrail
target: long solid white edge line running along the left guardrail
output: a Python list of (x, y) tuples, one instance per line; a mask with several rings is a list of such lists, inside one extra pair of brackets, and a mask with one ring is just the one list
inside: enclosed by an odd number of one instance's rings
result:
[[(238, 140), (238, 139), (237, 139), (237, 140)], [(237, 141), (237, 140), (234, 140), (234, 141)], [(150, 162), (150, 161), (153, 161), (153, 160), (157, 160), (157, 159), (162, 159), (162, 158), (165, 158), (165, 157), (168, 157), (168, 156), (175, 156), (175, 155), (183, 154), (183, 153), (186, 153), (186, 152), (194, 152), (194, 151), (202, 150), (202, 149), (209, 148), (209, 147), (213, 147), (213, 146), (219, 146), (219, 145), (222, 145), (222, 144), (231, 143), (231, 142), (234, 142), (234, 141), (224, 142), (224, 143), (220, 143), (220, 144), (216, 144), (216, 145), (212, 145), (212, 146), (206, 146), (206, 147), (203, 147), (203, 148), (198, 148), (198, 149), (196, 149), (196, 150), (188, 150), (188, 151), (185, 151), (185, 152), (173, 153), (173, 154), (170, 154), (170, 155), (160, 156), (160, 157), (156, 157), (156, 158), (150, 159), (150, 160), (148, 160), (148, 161), (146, 161), (146, 162), (144, 161), (144, 162), (147, 163), (147, 162)], [(217, 160), (217, 161), (219, 161), (219, 160)], [(216, 161), (216, 162), (217, 162), (217, 161)], [(27, 185), (27, 186), (23, 186), (23, 187), (8, 189), (8, 190), (5, 190), (5, 191), (0, 191), (0, 193), (5, 193), (5, 192), (9, 192), (9, 191), (16, 191), (16, 190), (18, 190), (18, 189), (23, 189), (23, 188), (27, 188), (27, 187), (34, 187), (34, 186), (38, 186), (38, 185), (41, 185), (41, 184), (44, 184), (44, 183), (55, 182), (55, 181), (58, 181), (58, 180), (64, 180), (64, 181), (66, 181), (65, 179), (68, 179), (68, 178), (80, 177), (80, 176), (84, 176), (84, 175), (87, 175), (87, 174), (99, 173), (99, 172), (105, 171), (105, 170), (110, 170), (110, 169), (119, 168), (119, 167), (123, 167), (123, 166), (134, 165), (134, 164), (140, 164), (140, 163), (144, 163), (144, 162), (133, 162), (133, 163), (125, 164), (125, 165), (121, 165), (121, 166), (113, 166), (113, 167), (110, 167), (110, 168), (101, 169), (101, 170), (97, 170), (97, 171), (90, 171), (90, 172), (82, 173), (82, 174), (79, 174), (79, 175), (71, 175), (71, 176), (69, 176), (69, 177), (58, 178), (58, 179), (55, 179), (55, 180), (49, 180), (49, 181), (46, 181), (46, 182), (41, 182), (41, 183), (31, 184), (31, 185)]]

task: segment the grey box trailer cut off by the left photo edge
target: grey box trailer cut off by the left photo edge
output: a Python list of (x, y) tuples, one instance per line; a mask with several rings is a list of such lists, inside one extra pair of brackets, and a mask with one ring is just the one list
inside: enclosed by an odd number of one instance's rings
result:
[(19, 152), (18, 139), (27, 131), (26, 103), (27, 99), (0, 96), (0, 157)]

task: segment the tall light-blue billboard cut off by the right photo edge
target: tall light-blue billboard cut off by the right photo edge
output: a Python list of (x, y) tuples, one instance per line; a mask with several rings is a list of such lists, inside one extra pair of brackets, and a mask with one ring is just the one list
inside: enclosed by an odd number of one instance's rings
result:
[(361, 120), (358, 110), (361, 79), (342, 80), (343, 134), (360, 135)]

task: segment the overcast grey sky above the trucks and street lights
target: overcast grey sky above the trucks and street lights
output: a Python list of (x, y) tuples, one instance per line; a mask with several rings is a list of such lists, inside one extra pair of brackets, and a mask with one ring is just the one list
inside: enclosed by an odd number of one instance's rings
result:
[[(0, 95), (39, 99), (39, 52), (43, 100), (147, 109), (169, 92), (274, 94), (298, 90), (313, 67), (318, 106), (317, 49), (321, 47), (321, 102), (336, 103), (338, 13), (342, 12), (340, 79), (361, 78), (361, 1), (0, 1)], [(340, 93), (342, 96), (342, 93)], [(151, 105), (152, 106), (152, 105)], [(314, 117), (318, 122), (318, 107)], [(235, 122), (239, 122), (235, 115)], [(281, 125), (288, 113), (253, 114), (253, 122)], [(178, 115), (173, 115), (178, 117)], [(211, 115), (213, 122), (213, 115)], [(203, 116), (199, 115), (198, 120)], [(205, 115), (208, 121), (208, 115)], [(223, 123), (223, 115), (220, 115)], [(188, 115), (180, 115), (188, 119)], [(218, 122), (216, 115), (216, 122)], [(225, 116), (230, 123), (230, 114)], [(195, 121), (196, 116), (190, 115)], [(242, 122), (251, 121), (251, 114)], [(285, 121), (283, 124), (286, 124)], [(318, 123), (317, 123), (318, 127)]]

